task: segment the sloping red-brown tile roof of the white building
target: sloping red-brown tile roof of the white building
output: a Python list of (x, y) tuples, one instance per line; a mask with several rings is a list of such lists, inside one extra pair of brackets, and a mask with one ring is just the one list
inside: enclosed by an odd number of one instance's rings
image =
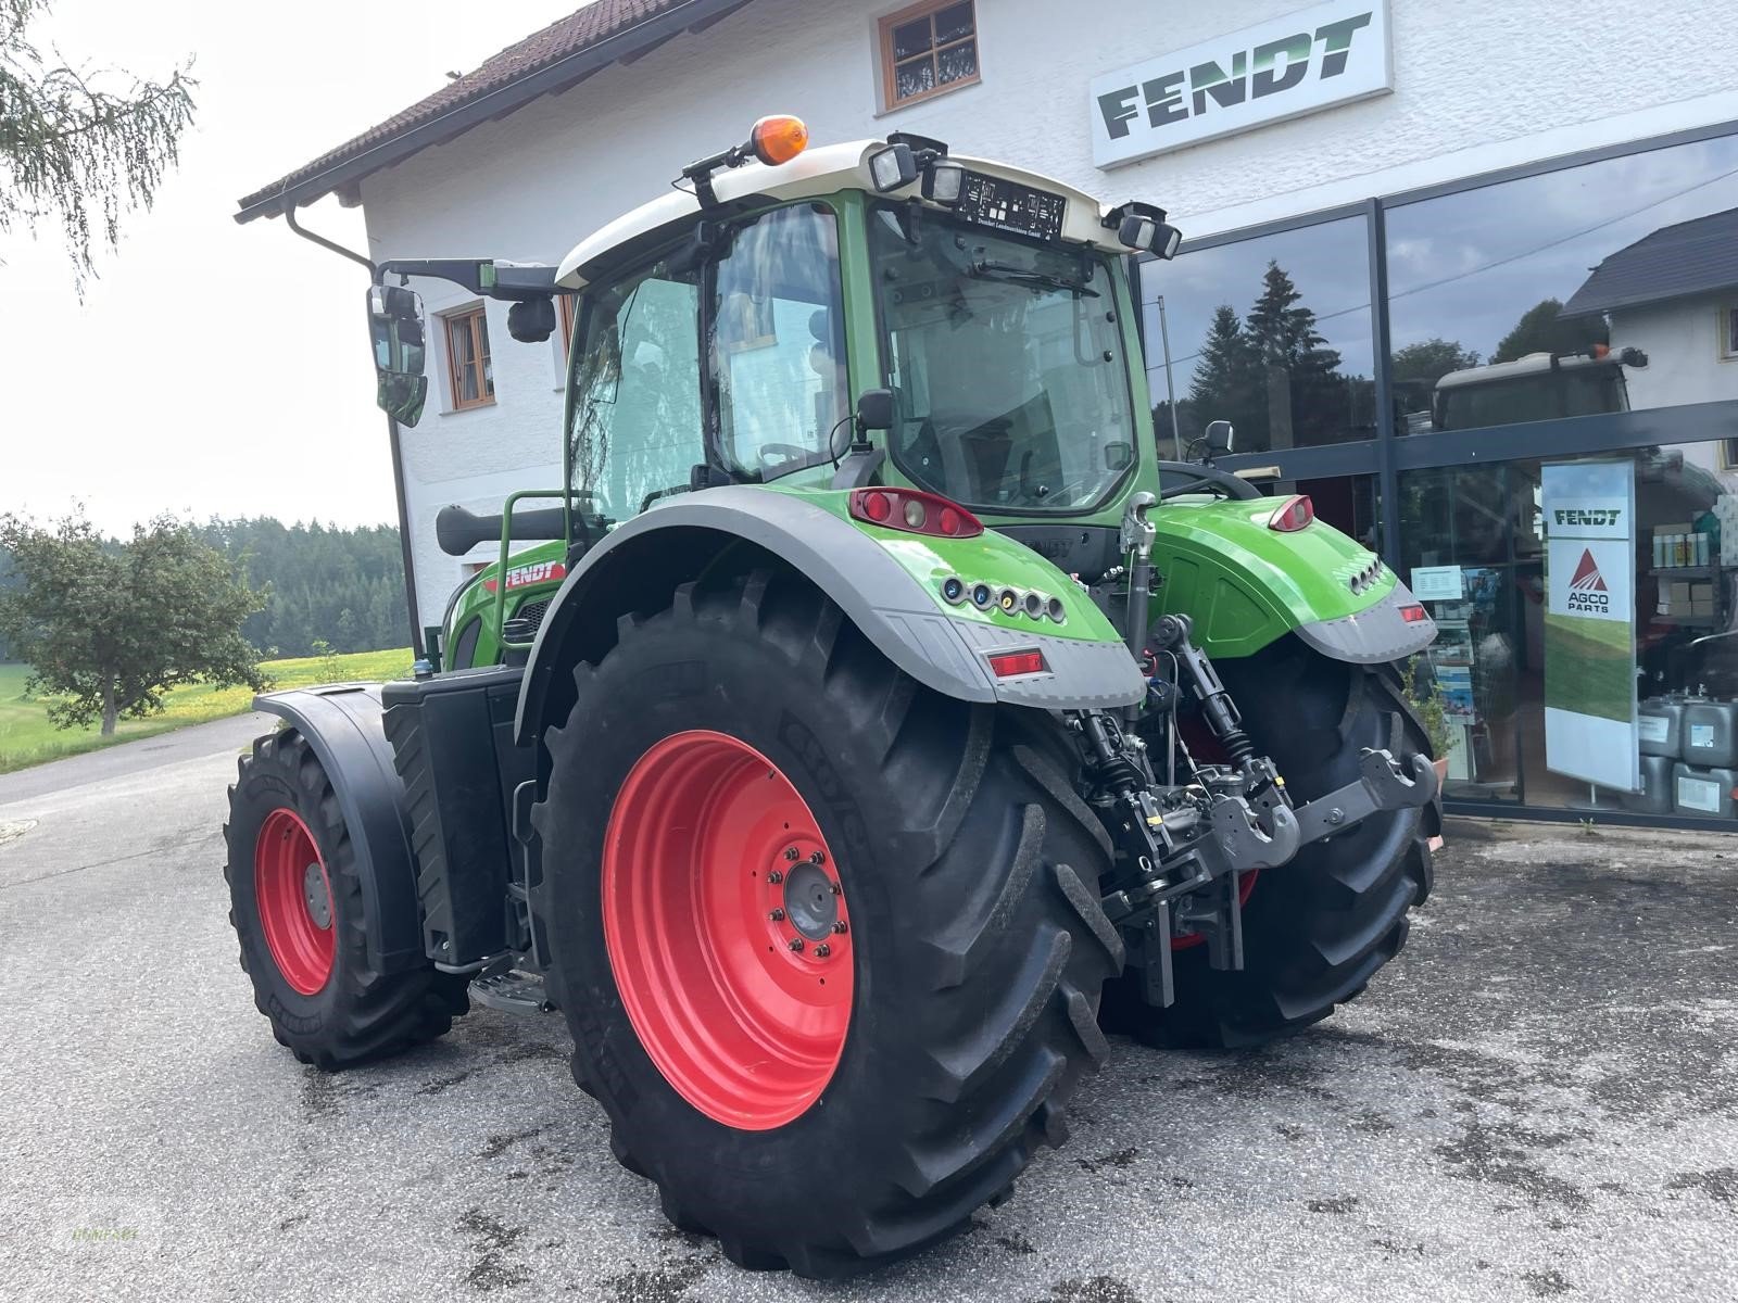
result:
[[(315, 198), (320, 198), (320, 195), (325, 195), (341, 184), (360, 179), (375, 167), (388, 167), (389, 163), (400, 162), (410, 151), (398, 151), (393, 156), (381, 158), (379, 163), (375, 163), (374, 167), (346, 169), (348, 175), (334, 177), (332, 184), (328, 186), (323, 188), (315, 186), (311, 189), (308, 188), (308, 182), (315, 181), (316, 177), (322, 177), (322, 174), (332, 172), (342, 167), (344, 163), (360, 160), (370, 151), (375, 151), (381, 146), (389, 144), (393, 141), (400, 141), (410, 132), (417, 132), (426, 127), (434, 127), (443, 118), (454, 118), (452, 130), (445, 134), (436, 132), (431, 139), (417, 144), (415, 148), (426, 148), (428, 144), (436, 144), (438, 141), (459, 136), (461, 132), (476, 125), (474, 118), (461, 116), (459, 111), (464, 109), (466, 106), (476, 104), (478, 101), (495, 96), (497, 92), (502, 92), (507, 87), (525, 82), (535, 73), (553, 69), (563, 61), (572, 59), (577, 54), (584, 54), (586, 50), (591, 50), (598, 45), (603, 45), (605, 42), (612, 42), (619, 36), (631, 36), (631, 33), (636, 28), (647, 26), (653, 19), (659, 19), (666, 14), (673, 14), (674, 10), (680, 9), (693, 9), (697, 10), (695, 24), (709, 23), (714, 17), (721, 17), (725, 12), (730, 12), (732, 9), (740, 7), (740, 3), (747, 3), (747, 0), (737, 0), (737, 3), (723, 3), (723, 5), (706, 3), (704, 0), (593, 0), (593, 3), (587, 3), (584, 9), (568, 14), (558, 23), (551, 23), (542, 31), (535, 31), (525, 40), (518, 42), (516, 45), (509, 45), (507, 49), (501, 50), (501, 54), (494, 56), (492, 59), (487, 59), (474, 71), (466, 73), (464, 76), (450, 82), (448, 85), (443, 85), (433, 96), (417, 101), (401, 113), (395, 113), (386, 122), (370, 127), (362, 136), (344, 141), (344, 144), (320, 155), (311, 163), (304, 163), (289, 175), (280, 177), (278, 181), (273, 181), (269, 186), (264, 186), (262, 189), (257, 189), (252, 195), (245, 196), (243, 200), (240, 200), (242, 212), (238, 214), (238, 219), (247, 221), (249, 217), (257, 217), (262, 212), (275, 214), (278, 208), (275, 202), (280, 200), (282, 196), (290, 195), (292, 191), (294, 191), (294, 200), (297, 203), (309, 203)], [(711, 12), (700, 14), (699, 10), (702, 9)], [(633, 40), (617, 42), (627, 47), (622, 49), (617, 57), (643, 52), (645, 49), (650, 49), (652, 45), (667, 40), (669, 35), (674, 33), (666, 33), (666, 31), (647, 33), (647, 40), (640, 45), (636, 45)], [(572, 82), (587, 76), (591, 71), (596, 71), (596, 68), (594, 66), (577, 68), (568, 82), (544, 87), (537, 90), (537, 94), (547, 94), (549, 90), (565, 89), (565, 85), (572, 85)], [(507, 103), (501, 106), (499, 113), (490, 116), (499, 116), (501, 113), (511, 113), (523, 103), (523, 101), (513, 101), (511, 97), (504, 99)]]

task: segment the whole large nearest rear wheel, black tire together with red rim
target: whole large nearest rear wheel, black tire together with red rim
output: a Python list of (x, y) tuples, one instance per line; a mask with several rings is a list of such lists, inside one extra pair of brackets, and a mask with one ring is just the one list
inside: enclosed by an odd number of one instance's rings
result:
[(1060, 1143), (1121, 943), (1048, 718), (923, 690), (784, 572), (685, 585), (575, 683), (535, 907), (671, 1221), (845, 1275)]

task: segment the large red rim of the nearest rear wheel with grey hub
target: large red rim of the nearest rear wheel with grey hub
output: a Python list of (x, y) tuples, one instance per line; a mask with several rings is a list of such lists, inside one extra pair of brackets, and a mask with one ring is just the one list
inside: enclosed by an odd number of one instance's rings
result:
[(754, 747), (693, 730), (638, 759), (603, 841), (603, 940), (690, 1105), (770, 1131), (820, 1098), (852, 1020), (850, 916), (820, 825)]

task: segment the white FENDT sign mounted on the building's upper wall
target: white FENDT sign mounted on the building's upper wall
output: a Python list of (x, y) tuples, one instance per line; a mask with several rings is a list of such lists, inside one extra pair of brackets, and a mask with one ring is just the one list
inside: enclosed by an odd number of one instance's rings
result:
[(1116, 167), (1394, 89), (1387, 0), (1331, 0), (1091, 82), (1091, 158)]

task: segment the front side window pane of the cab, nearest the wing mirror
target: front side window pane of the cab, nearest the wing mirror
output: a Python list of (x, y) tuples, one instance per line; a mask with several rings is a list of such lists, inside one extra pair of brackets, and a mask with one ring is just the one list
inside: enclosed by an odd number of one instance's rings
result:
[(669, 262), (586, 292), (567, 438), (587, 514), (627, 519), (706, 460), (699, 306), (697, 274)]

